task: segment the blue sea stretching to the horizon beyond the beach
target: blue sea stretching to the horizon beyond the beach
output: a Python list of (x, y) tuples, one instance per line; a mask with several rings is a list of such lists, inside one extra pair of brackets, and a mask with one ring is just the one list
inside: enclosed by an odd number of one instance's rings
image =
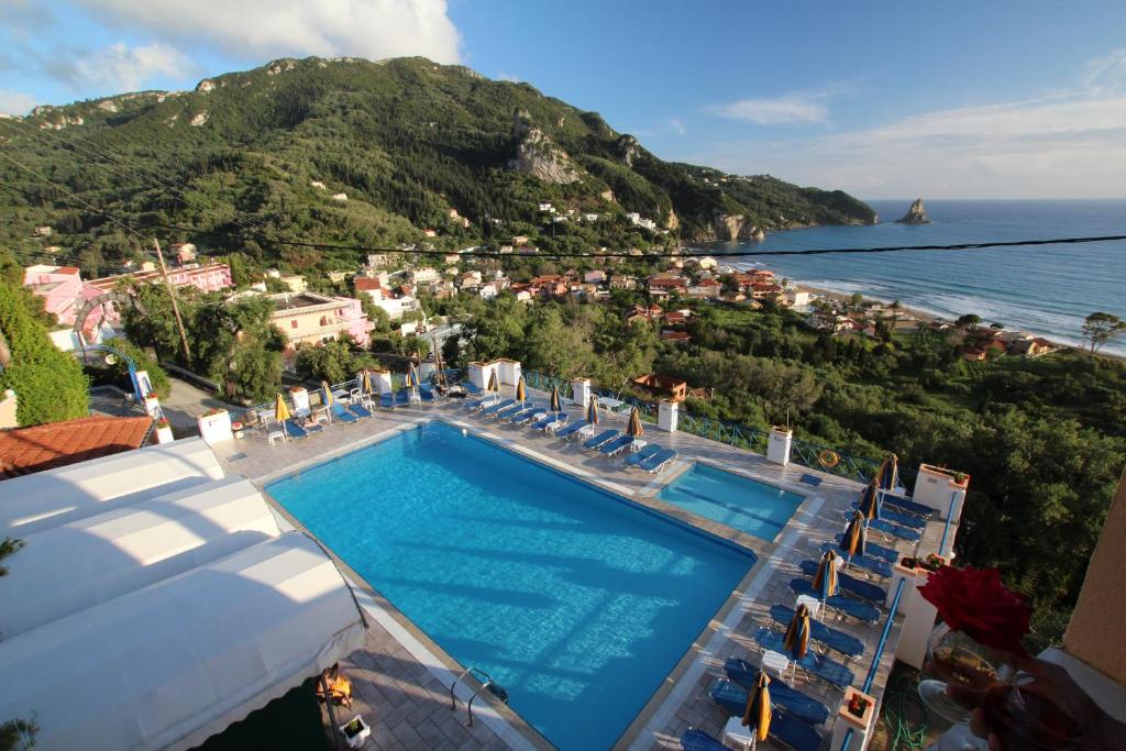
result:
[[(913, 199), (869, 200), (879, 223), (770, 234), (761, 242), (720, 243), (736, 251), (810, 248), (950, 245), (1126, 234), (1126, 199), (926, 200), (930, 224), (896, 224)], [(1057, 342), (1082, 343), (1083, 319), (1103, 311), (1126, 320), (1126, 241), (958, 251), (902, 251), (732, 259), (795, 284), (900, 301), (945, 319), (976, 313), (988, 323)], [(1126, 338), (1105, 351), (1126, 355)]]

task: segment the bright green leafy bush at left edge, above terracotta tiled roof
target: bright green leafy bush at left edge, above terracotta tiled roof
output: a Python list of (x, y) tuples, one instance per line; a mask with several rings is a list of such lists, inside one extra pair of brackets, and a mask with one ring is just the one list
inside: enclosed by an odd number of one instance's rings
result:
[(18, 397), (20, 426), (86, 417), (89, 383), (73, 356), (60, 351), (28, 310), (23, 289), (0, 283), (0, 393)]

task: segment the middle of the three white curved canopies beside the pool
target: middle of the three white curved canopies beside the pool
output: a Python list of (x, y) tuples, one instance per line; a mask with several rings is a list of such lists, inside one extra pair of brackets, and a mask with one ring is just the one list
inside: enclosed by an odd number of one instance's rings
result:
[(11, 638), (277, 537), (258, 489), (227, 477), (24, 537), (0, 582)]

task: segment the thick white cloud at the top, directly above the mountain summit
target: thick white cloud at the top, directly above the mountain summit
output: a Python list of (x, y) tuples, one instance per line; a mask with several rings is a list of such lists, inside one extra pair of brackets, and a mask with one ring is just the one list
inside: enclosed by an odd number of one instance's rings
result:
[(425, 55), (458, 62), (446, 0), (75, 0), (107, 23), (243, 59)]

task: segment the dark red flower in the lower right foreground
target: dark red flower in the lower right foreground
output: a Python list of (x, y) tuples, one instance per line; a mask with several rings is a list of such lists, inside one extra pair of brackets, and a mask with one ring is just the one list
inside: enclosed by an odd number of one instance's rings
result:
[(928, 576), (919, 593), (938, 608), (951, 631), (995, 650), (1026, 654), (1020, 640), (1028, 633), (1031, 609), (1024, 596), (1001, 583), (997, 569), (942, 566)]

